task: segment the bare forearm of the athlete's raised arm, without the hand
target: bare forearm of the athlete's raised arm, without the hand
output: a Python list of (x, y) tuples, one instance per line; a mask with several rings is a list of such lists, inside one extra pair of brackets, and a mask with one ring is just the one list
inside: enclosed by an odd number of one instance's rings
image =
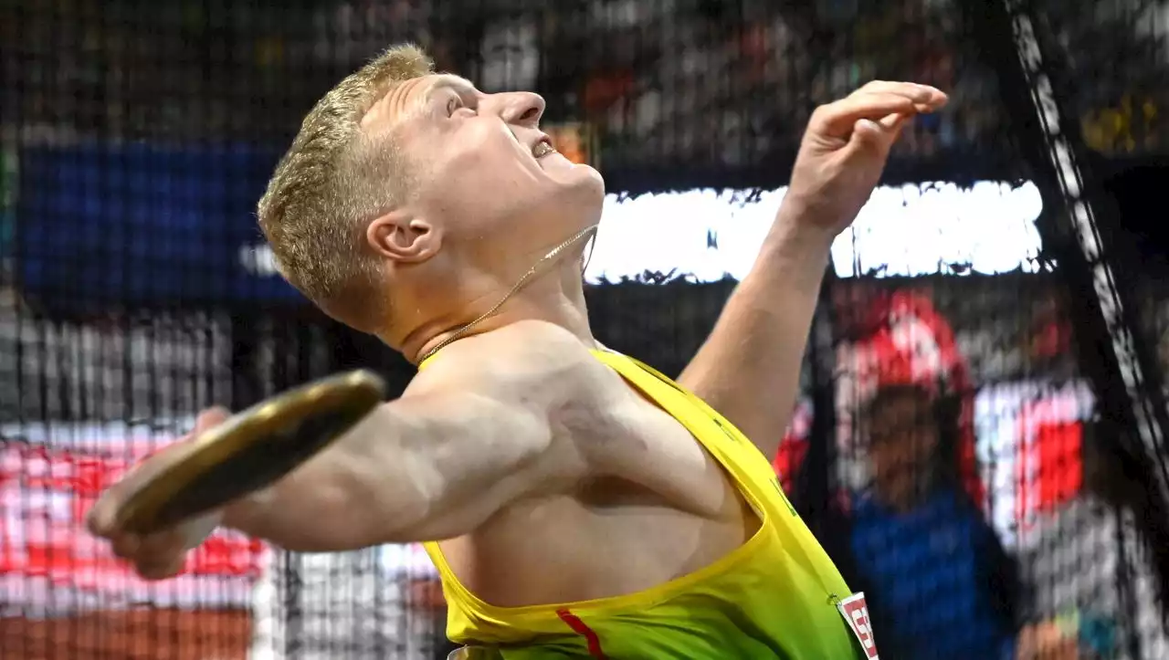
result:
[(831, 235), (798, 206), (776, 215), (759, 257), (678, 382), (726, 416), (768, 458), (791, 421), (800, 366)]

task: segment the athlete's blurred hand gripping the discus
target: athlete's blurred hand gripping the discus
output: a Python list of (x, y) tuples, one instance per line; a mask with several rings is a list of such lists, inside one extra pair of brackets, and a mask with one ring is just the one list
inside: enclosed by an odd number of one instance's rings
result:
[(140, 536), (117, 527), (115, 519), (122, 502), (165, 470), (174, 459), (175, 450), (186, 440), (222, 424), (228, 416), (229, 412), (222, 408), (210, 408), (201, 412), (191, 436), (139, 463), (122, 480), (102, 493), (97, 503), (90, 509), (85, 520), (89, 530), (95, 536), (108, 539), (113, 554), (131, 562), (141, 577), (165, 579), (181, 572), (187, 551), (202, 543), (219, 526), (222, 516), (213, 512), (186, 521), (173, 529)]

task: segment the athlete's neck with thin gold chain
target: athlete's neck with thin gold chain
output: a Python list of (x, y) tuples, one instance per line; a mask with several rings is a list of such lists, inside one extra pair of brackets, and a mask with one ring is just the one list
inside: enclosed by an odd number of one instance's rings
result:
[(582, 343), (595, 346), (584, 305), (579, 252), (574, 250), (566, 253), (560, 263), (548, 264), (546, 272), (533, 277), (486, 319), (466, 327), (498, 304), (510, 291), (511, 283), (489, 287), (489, 292), (478, 296), (472, 304), (462, 306), (456, 313), (434, 317), (417, 325), (396, 346), (401, 347), (407, 360), (417, 364), (422, 356), (456, 333), (458, 339), (465, 339), (520, 321), (553, 324), (573, 333)]

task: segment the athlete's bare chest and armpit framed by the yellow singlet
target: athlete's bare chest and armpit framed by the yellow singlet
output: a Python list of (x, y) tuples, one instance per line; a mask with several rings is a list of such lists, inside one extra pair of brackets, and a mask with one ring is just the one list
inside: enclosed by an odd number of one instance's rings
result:
[(708, 565), (759, 528), (731, 473), (685, 424), (597, 368), (552, 417), (570, 440), (562, 444), (580, 447), (586, 477), (443, 544), (464, 584), (489, 602), (634, 593)]

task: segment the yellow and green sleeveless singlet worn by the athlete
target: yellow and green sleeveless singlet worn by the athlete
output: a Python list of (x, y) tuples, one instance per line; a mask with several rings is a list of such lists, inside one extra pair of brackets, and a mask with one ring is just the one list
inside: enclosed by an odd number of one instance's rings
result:
[(736, 550), (652, 589), (579, 603), (496, 607), (471, 593), (437, 543), (447, 634), (507, 660), (853, 660), (859, 645), (835, 606), (851, 593), (783, 495), (770, 463), (718, 412), (650, 367), (617, 353), (597, 360), (655, 401), (706, 447), (762, 520)]

